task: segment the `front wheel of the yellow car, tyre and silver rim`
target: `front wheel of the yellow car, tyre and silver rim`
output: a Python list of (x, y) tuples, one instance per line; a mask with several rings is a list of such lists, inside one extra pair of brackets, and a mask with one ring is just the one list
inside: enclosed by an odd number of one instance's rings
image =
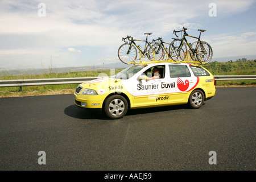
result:
[(128, 102), (125, 97), (113, 95), (104, 102), (104, 113), (111, 119), (122, 118), (128, 110)]

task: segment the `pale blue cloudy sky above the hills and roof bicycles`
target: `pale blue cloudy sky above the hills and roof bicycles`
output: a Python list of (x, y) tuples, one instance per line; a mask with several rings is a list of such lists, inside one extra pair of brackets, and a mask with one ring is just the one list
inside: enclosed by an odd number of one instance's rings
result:
[(0, 69), (119, 63), (123, 37), (170, 43), (182, 27), (207, 30), (213, 58), (256, 55), (255, 19), (255, 0), (0, 0)]

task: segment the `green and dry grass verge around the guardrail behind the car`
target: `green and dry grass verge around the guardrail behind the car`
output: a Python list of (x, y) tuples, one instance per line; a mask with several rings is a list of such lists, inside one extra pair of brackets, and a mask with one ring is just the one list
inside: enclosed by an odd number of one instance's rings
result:
[[(214, 61), (204, 65), (213, 75), (256, 75), (256, 60), (249, 61), (229, 61), (220, 63)], [(122, 69), (115, 69), (115, 73)], [(18, 79), (37, 79), (37, 78), (70, 78), (70, 77), (97, 77), (99, 75), (110, 76), (110, 69), (104, 71), (86, 71), (86, 72), (67, 72), (67, 73), (42, 73), (40, 75), (24, 74), (19, 76), (7, 75), (1, 76), (0, 80), (18, 80)], [(22, 97), (22, 96), (41, 96), (52, 94), (72, 94), (75, 92), (78, 84), (69, 85), (44, 85), (44, 86), (23, 86), (22, 92), (19, 87), (0, 88), (1, 97)], [(241, 87), (256, 86), (256, 80), (241, 81), (217, 81), (216, 87)]]

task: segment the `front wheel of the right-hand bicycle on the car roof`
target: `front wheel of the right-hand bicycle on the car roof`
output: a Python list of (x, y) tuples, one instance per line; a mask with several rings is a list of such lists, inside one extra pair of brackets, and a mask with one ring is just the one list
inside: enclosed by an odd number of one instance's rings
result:
[(180, 43), (181, 40), (174, 40), (170, 44), (169, 53), (174, 61), (183, 61), (187, 56), (187, 46), (183, 43), (179, 49)]

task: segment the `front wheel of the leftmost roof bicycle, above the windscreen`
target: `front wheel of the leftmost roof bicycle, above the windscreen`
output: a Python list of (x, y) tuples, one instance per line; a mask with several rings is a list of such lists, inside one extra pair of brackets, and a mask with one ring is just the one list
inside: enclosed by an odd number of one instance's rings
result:
[(118, 49), (118, 57), (125, 64), (131, 63), (137, 58), (137, 49), (130, 43), (122, 44)]

